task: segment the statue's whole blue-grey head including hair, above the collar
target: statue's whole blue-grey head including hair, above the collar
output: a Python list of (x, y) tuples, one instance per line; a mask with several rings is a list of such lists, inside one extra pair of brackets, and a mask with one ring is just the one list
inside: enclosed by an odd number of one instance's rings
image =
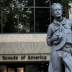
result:
[(51, 5), (51, 13), (54, 17), (61, 17), (63, 14), (63, 6), (60, 3), (53, 3)]

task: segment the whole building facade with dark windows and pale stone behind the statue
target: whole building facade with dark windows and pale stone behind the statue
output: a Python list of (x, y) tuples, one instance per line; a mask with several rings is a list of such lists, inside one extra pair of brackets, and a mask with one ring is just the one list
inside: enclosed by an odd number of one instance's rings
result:
[[(0, 0), (0, 72), (48, 72), (46, 32), (53, 2), (64, 1)], [(71, 18), (69, 6), (63, 16)]]

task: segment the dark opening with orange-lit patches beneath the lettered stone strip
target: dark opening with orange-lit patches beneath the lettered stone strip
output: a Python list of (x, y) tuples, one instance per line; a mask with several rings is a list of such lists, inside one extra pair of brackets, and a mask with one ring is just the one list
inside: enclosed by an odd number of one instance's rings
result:
[(48, 72), (48, 62), (0, 63), (0, 72)]

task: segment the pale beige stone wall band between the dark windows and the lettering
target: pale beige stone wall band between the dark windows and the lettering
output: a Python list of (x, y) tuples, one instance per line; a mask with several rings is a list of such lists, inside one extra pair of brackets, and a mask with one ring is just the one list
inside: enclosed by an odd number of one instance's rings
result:
[[(50, 47), (46, 34), (1, 34), (0, 57), (2, 55), (46, 55), (49, 60)], [(0, 58), (1, 59), (1, 58)], [(2, 61), (2, 60), (1, 60)]]

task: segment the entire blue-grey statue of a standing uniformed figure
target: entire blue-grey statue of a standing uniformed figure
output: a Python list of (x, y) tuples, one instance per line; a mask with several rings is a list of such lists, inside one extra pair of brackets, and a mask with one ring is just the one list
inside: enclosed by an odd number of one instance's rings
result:
[(52, 47), (48, 72), (61, 72), (61, 58), (65, 72), (72, 72), (72, 21), (62, 16), (60, 3), (51, 5), (51, 13), (54, 20), (47, 31), (47, 44)]

